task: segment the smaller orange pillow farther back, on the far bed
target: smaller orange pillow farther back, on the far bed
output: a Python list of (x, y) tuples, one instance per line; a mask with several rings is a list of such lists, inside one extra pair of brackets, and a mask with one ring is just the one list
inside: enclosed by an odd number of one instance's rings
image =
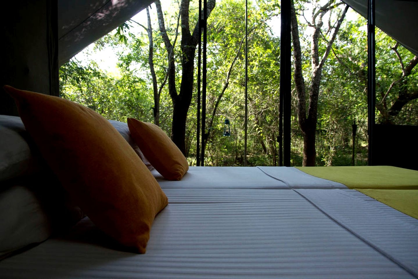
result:
[(189, 164), (180, 149), (153, 123), (128, 118), (132, 138), (153, 167), (168, 180), (180, 180)]

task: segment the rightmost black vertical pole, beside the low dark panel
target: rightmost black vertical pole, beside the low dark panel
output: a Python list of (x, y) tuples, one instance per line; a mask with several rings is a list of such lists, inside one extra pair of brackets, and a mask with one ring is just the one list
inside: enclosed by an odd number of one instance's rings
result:
[(376, 58), (375, 58), (375, 0), (369, 0), (367, 6), (367, 108), (369, 152), (367, 164), (373, 164), (373, 126), (375, 125), (376, 106)]

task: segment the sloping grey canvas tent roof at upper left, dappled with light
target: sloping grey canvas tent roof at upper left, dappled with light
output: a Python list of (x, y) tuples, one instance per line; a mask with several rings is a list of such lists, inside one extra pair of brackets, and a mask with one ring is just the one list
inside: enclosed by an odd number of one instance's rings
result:
[(58, 62), (64, 64), (153, 0), (59, 0)]

